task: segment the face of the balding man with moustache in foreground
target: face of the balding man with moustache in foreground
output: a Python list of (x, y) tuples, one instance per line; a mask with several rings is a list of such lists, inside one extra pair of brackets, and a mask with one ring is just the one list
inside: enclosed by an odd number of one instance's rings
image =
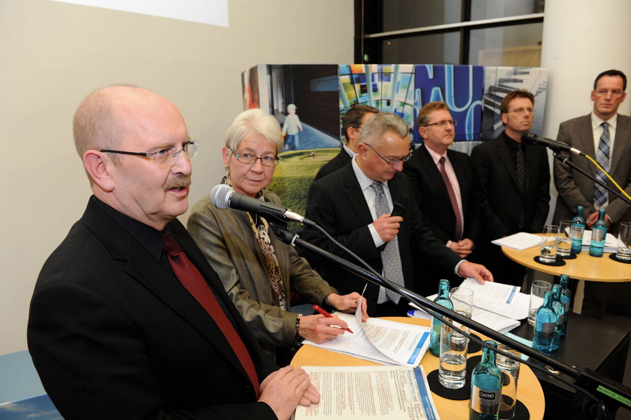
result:
[[(180, 112), (167, 100), (141, 103), (126, 110), (126, 129), (119, 150), (153, 153), (182, 146), (190, 140)], [(188, 208), (191, 161), (180, 152), (177, 162), (160, 168), (155, 160), (142, 156), (117, 155), (112, 167), (112, 191), (119, 211), (146, 225), (162, 226), (184, 214)]]

